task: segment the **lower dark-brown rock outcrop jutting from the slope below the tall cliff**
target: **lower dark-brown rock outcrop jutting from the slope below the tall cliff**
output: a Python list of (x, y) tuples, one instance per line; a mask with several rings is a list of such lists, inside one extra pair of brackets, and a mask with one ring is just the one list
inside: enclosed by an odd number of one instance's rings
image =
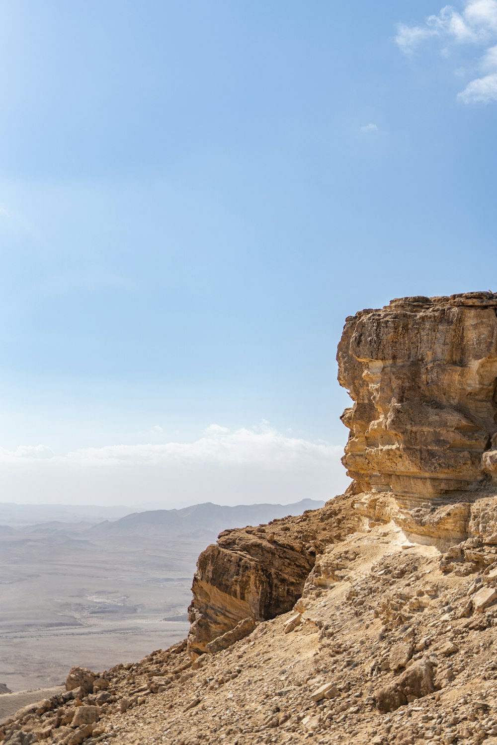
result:
[(189, 608), (189, 653), (206, 652), (209, 642), (241, 621), (265, 621), (293, 608), (324, 546), (358, 524), (351, 498), (337, 498), (321, 510), (259, 526), (225, 530), (200, 554)]

